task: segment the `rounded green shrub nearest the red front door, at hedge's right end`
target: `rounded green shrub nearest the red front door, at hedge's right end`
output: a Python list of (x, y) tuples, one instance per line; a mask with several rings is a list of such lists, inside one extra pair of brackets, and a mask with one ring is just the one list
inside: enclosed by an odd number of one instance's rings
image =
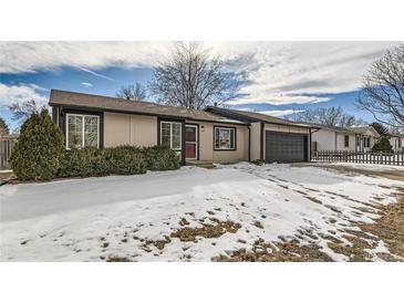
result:
[(178, 155), (167, 147), (144, 147), (143, 153), (149, 170), (172, 170), (180, 167)]

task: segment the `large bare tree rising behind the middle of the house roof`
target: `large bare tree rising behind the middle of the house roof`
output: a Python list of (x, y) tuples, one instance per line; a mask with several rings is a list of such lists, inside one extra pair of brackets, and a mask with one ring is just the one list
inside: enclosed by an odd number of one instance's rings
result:
[(224, 71), (222, 61), (210, 56), (199, 42), (176, 43), (149, 83), (157, 102), (196, 109), (235, 98), (238, 87), (235, 75)]

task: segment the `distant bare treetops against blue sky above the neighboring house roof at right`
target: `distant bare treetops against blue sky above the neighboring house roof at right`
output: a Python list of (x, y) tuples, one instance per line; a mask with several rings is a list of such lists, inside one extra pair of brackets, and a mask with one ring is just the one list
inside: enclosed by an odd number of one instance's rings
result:
[(328, 126), (350, 127), (354, 125), (366, 124), (363, 119), (358, 119), (355, 116), (345, 113), (341, 106), (318, 107), (313, 109), (294, 109), (288, 116), (289, 119), (305, 123), (317, 123)]

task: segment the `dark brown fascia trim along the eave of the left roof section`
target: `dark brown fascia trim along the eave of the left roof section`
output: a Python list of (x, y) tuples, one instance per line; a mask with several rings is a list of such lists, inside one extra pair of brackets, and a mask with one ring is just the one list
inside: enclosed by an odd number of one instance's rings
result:
[(77, 111), (90, 111), (90, 112), (99, 112), (99, 113), (117, 113), (117, 114), (132, 114), (132, 115), (143, 115), (143, 116), (153, 116), (153, 117), (162, 117), (166, 119), (189, 119), (195, 122), (206, 122), (206, 123), (222, 123), (228, 125), (247, 125), (246, 123), (231, 123), (231, 122), (220, 122), (217, 119), (199, 119), (186, 116), (173, 116), (173, 115), (164, 115), (164, 114), (152, 114), (152, 113), (143, 113), (137, 111), (123, 111), (123, 109), (110, 109), (110, 108), (101, 108), (101, 107), (90, 107), (90, 106), (79, 106), (79, 105), (63, 105), (59, 103), (49, 103), (50, 106), (63, 106), (64, 108), (72, 108)]

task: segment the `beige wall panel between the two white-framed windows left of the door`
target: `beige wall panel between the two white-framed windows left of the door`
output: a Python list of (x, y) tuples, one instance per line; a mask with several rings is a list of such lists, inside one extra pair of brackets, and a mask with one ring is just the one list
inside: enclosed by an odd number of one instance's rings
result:
[(157, 117), (104, 113), (104, 146), (157, 145)]

